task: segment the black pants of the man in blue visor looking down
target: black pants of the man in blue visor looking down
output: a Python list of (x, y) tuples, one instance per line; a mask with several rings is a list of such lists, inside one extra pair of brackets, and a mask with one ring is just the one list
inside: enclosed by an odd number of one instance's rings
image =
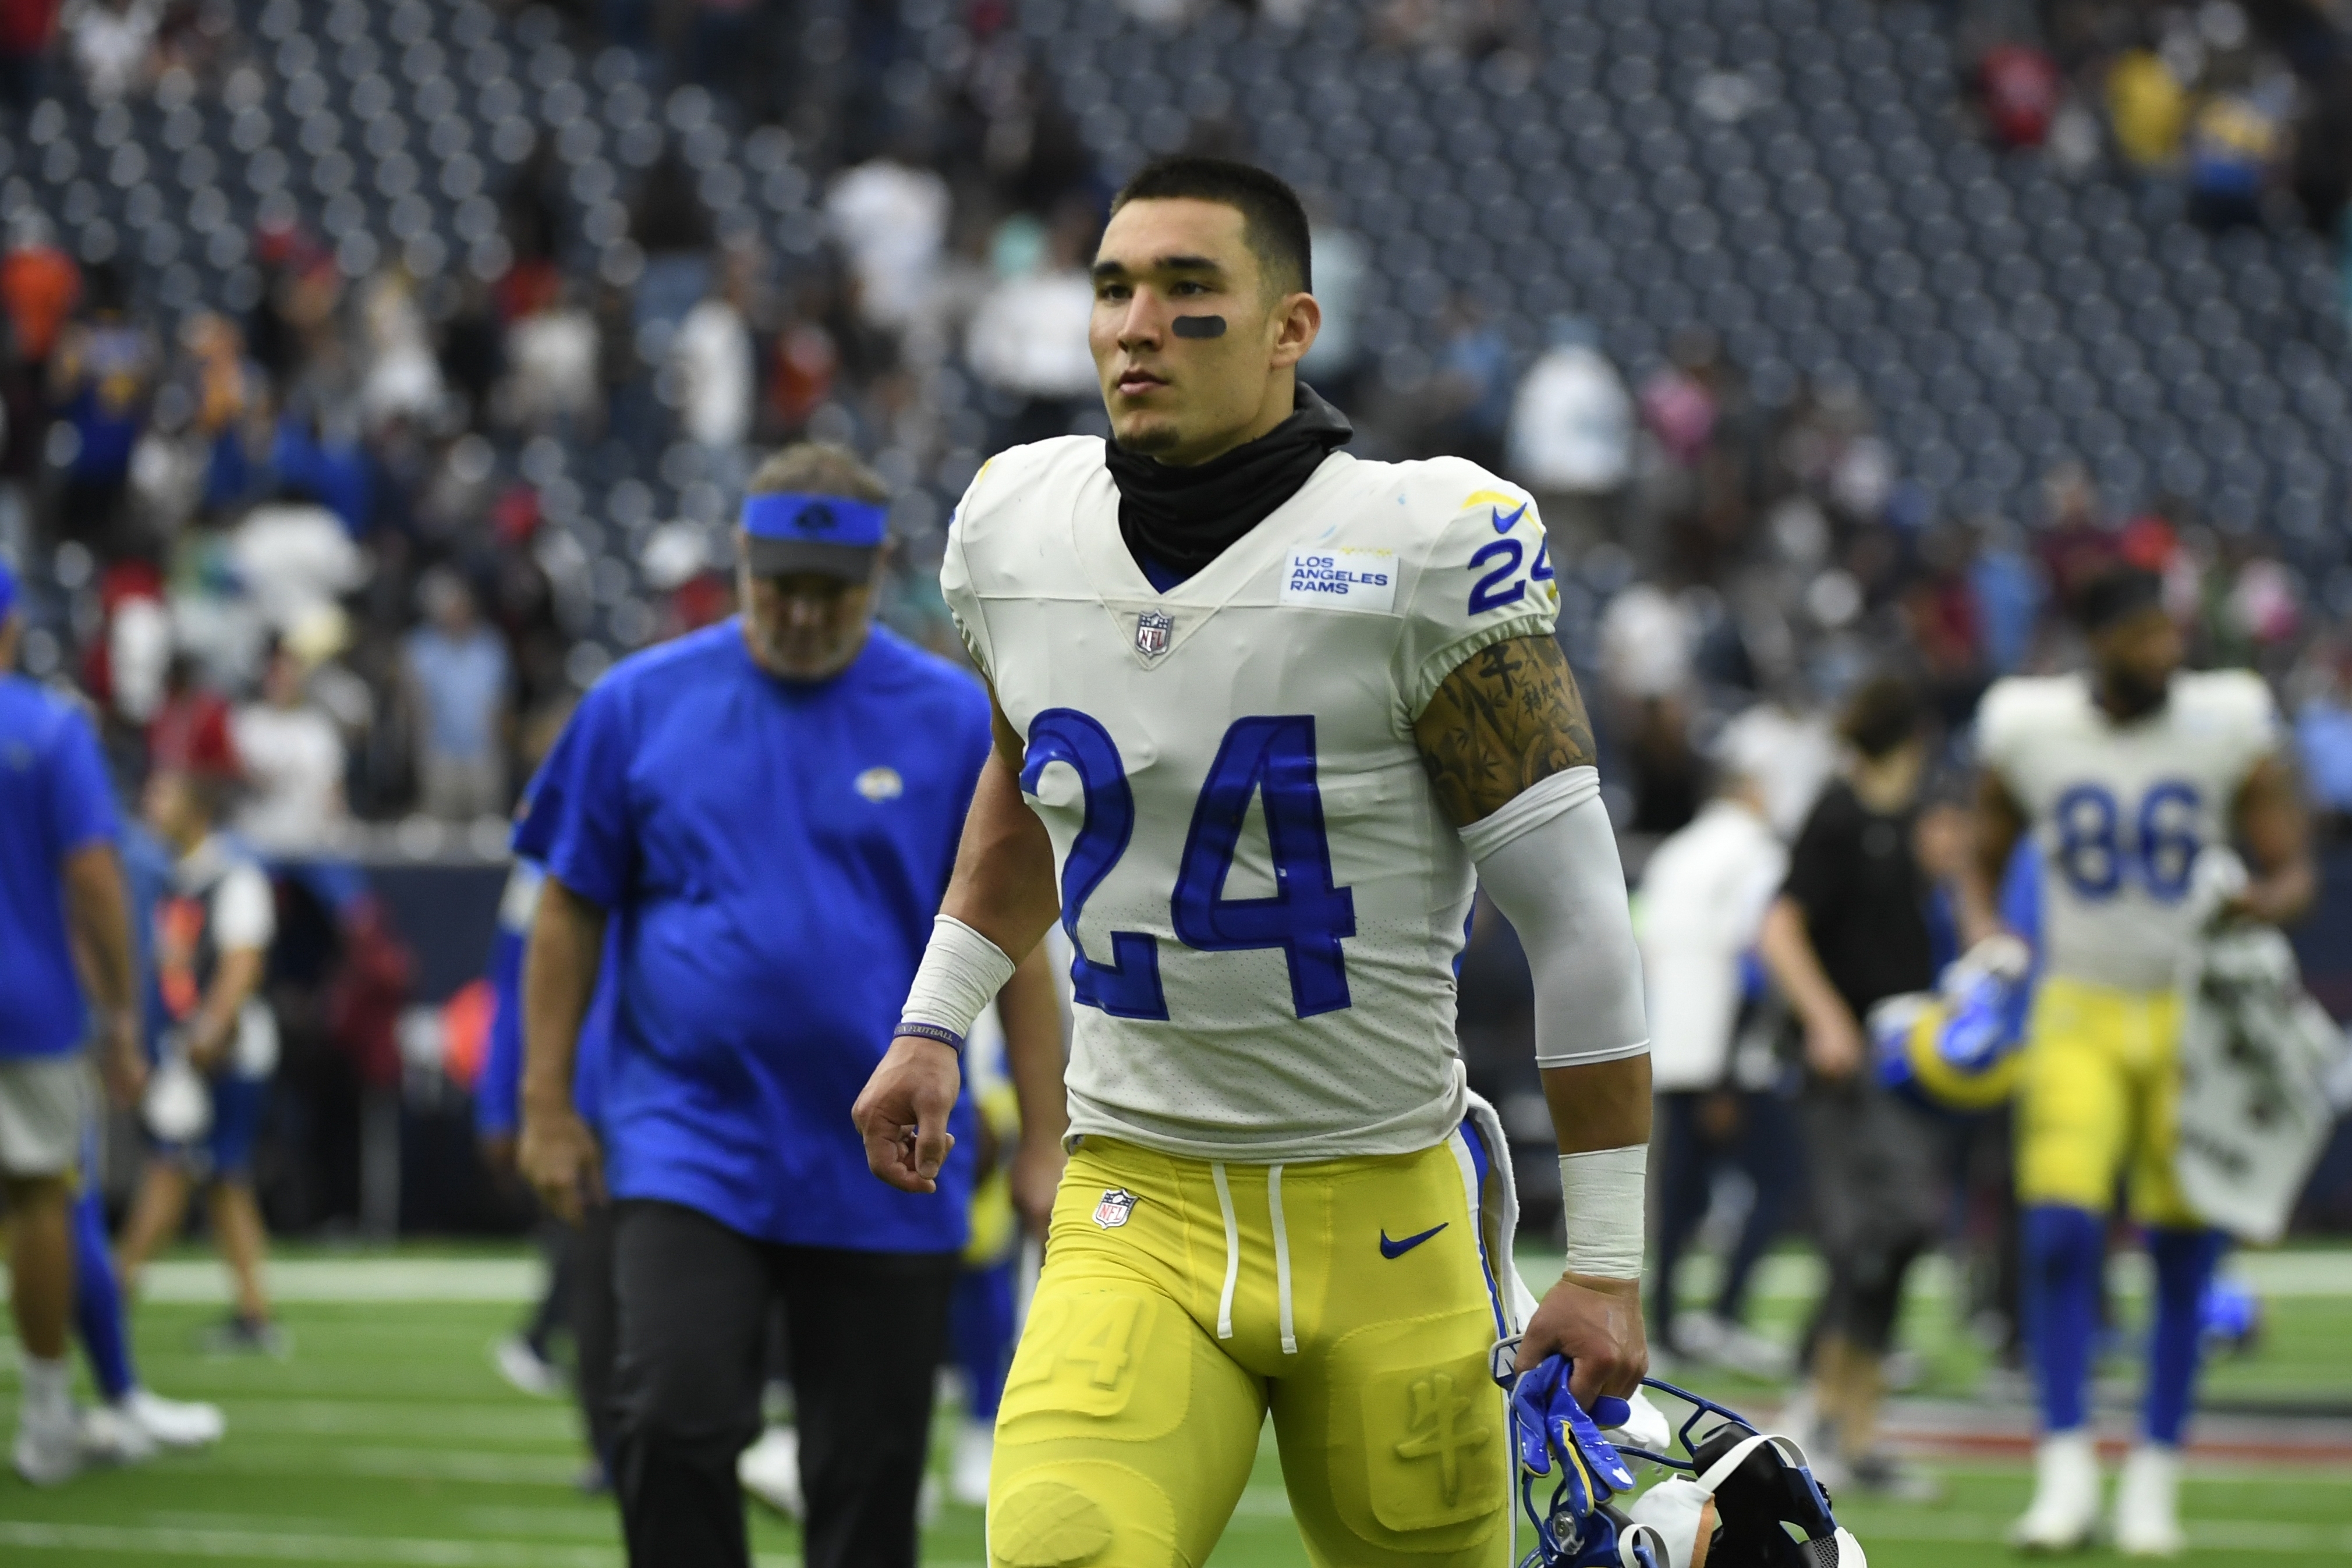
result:
[(769, 1305), (790, 1326), (807, 1568), (913, 1568), (953, 1253), (774, 1246), (677, 1204), (614, 1206), (614, 1490), (630, 1568), (743, 1568)]

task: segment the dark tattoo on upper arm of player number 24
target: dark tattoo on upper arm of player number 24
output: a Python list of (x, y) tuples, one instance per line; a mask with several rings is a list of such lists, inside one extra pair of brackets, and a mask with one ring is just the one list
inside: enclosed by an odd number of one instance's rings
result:
[(1597, 759), (1585, 698), (1550, 637), (1512, 637), (1465, 658), (1414, 722), (1414, 738), (1437, 804), (1463, 827)]

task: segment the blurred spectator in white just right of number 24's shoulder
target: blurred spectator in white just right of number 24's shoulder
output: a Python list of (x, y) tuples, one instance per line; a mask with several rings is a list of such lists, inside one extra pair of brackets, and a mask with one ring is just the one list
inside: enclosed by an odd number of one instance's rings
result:
[(1552, 317), (1552, 343), (1519, 378), (1510, 409), (1510, 477), (1562, 541), (1613, 531), (1632, 473), (1632, 395), (1583, 317)]

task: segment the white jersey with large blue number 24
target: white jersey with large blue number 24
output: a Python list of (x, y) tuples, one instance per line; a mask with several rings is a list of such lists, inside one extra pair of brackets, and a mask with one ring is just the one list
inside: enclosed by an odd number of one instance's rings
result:
[(1439, 1143), (1475, 872), (1411, 726), (1477, 649), (1552, 630), (1526, 494), (1331, 454), (1157, 592), (1103, 442), (1063, 437), (981, 470), (941, 588), (1054, 837), (1073, 1131), (1249, 1161)]

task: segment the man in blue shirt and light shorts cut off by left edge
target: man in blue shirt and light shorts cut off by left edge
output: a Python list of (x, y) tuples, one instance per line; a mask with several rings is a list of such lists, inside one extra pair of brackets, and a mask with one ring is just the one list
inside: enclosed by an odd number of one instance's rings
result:
[[(14, 1234), (9, 1307), (24, 1347), (14, 1460), (26, 1481), (56, 1486), (82, 1462), (66, 1321), (92, 1023), (122, 1100), (143, 1063), (106, 762), (73, 703), (14, 675), (19, 632), (16, 578), (0, 564), (0, 1187)], [(96, 992), (94, 1020), (82, 973)]]

